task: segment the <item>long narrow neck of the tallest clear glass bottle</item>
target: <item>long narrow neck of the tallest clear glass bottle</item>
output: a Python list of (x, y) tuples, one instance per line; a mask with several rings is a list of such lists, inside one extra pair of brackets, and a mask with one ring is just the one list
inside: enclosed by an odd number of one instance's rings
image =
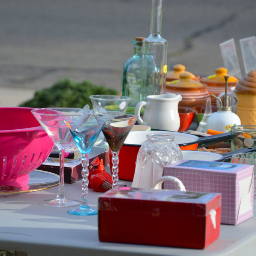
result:
[(162, 30), (162, 0), (152, 0), (150, 34), (160, 35)]

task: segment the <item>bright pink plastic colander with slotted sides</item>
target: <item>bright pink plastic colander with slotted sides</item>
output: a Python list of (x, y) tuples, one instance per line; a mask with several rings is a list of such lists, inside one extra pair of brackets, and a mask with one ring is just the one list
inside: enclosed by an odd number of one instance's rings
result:
[(31, 109), (0, 108), (0, 186), (26, 186), (53, 149)]

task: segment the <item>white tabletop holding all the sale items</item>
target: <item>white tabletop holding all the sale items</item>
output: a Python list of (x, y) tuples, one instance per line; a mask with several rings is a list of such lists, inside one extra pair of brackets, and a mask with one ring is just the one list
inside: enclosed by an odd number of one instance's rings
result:
[[(68, 198), (80, 199), (81, 182), (65, 184), (65, 189)], [(221, 225), (220, 238), (204, 250), (106, 243), (98, 240), (97, 215), (70, 215), (67, 211), (71, 208), (39, 205), (40, 201), (55, 198), (56, 192), (57, 187), (54, 187), (0, 198), (0, 250), (26, 252), (28, 256), (256, 255), (255, 217), (238, 226)], [(97, 208), (100, 194), (89, 189), (88, 200), (92, 207)]]

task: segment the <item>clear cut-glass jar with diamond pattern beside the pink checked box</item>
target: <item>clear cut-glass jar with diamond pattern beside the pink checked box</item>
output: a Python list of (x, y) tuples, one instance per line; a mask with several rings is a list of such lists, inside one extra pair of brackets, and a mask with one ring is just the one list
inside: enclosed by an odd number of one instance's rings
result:
[(164, 167), (182, 158), (182, 151), (174, 141), (174, 135), (148, 134), (137, 155), (132, 187), (153, 188), (156, 181), (163, 176)]

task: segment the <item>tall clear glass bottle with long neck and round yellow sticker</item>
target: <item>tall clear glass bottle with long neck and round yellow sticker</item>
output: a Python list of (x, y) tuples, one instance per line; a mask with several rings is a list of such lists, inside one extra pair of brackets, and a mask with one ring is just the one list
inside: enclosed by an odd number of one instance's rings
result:
[(162, 0), (152, 0), (150, 35), (142, 41), (140, 100), (164, 94), (167, 73), (167, 40), (161, 37)]

